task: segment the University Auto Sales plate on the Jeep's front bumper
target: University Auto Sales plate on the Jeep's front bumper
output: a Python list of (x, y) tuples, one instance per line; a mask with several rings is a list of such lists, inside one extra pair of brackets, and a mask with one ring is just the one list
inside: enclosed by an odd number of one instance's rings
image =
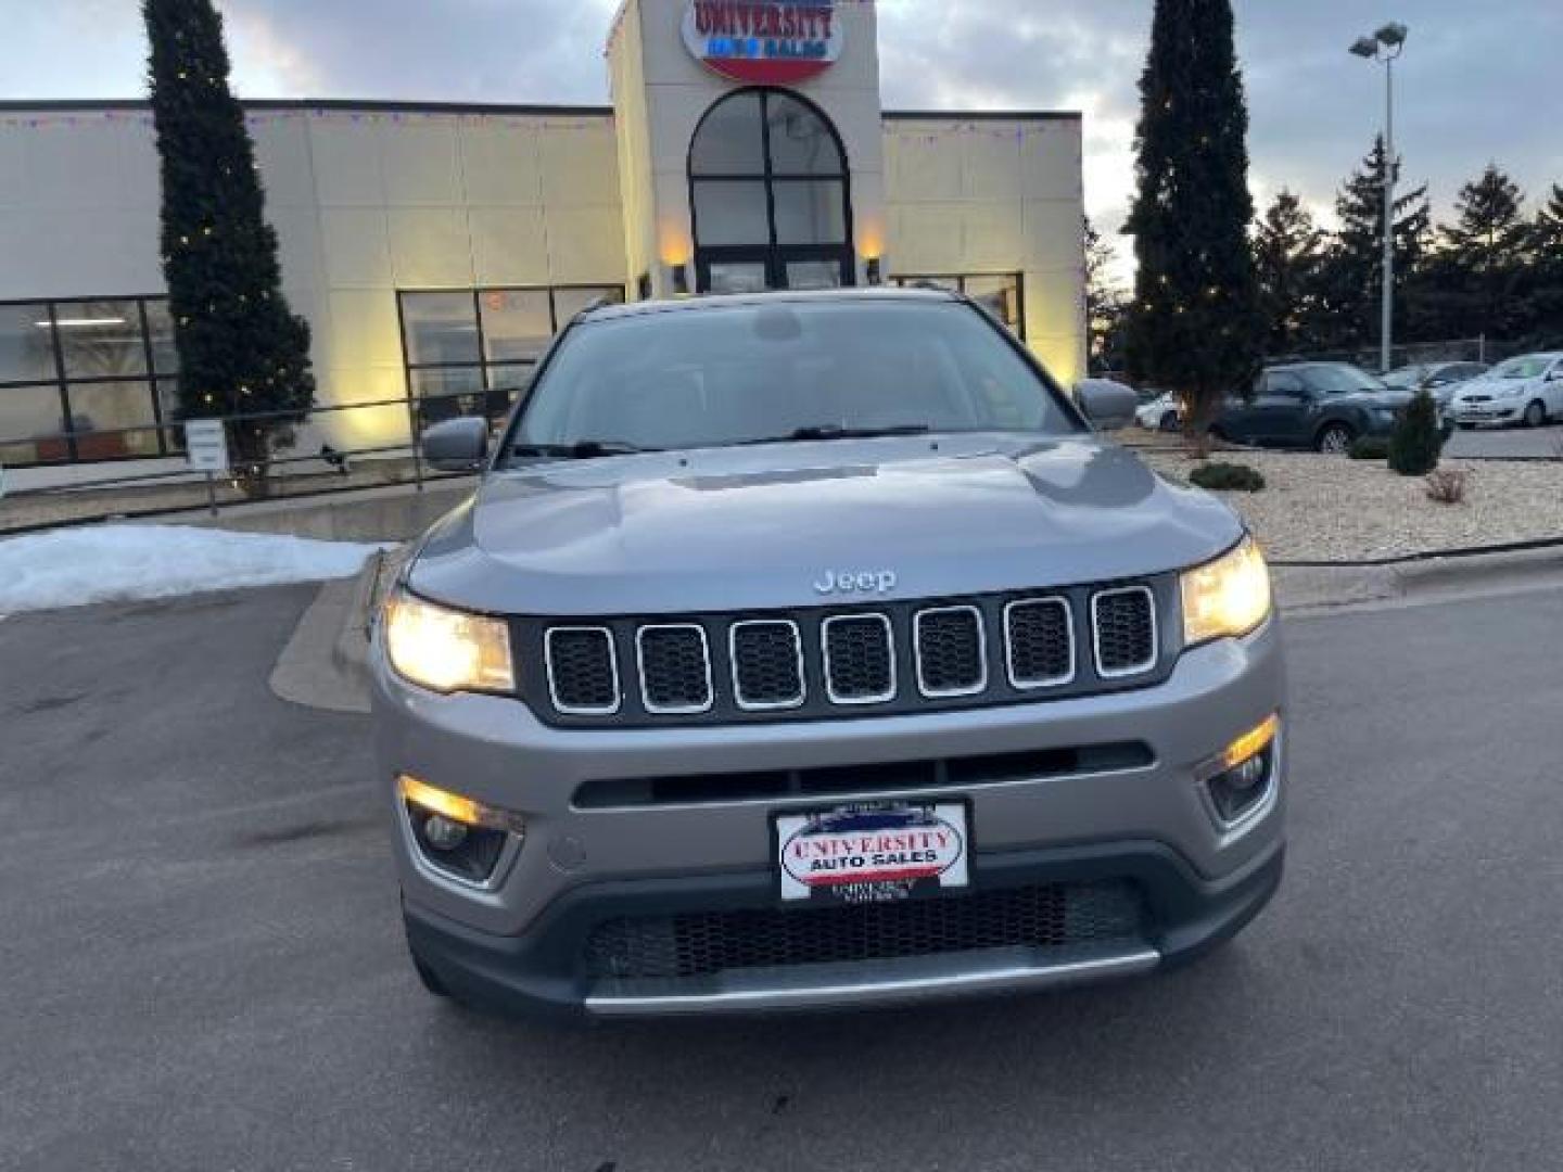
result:
[(960, 802), (838, 806), (775, 825), (783, 900), (880, 903), (969, 881)]

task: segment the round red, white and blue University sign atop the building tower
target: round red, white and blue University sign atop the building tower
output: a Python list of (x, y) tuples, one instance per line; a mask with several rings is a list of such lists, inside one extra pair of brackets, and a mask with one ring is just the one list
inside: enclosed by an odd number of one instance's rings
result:
[(822, 73), (846, 39), (835, 0), (689, 0), (683, 33), (699, 61), (756, 84)]

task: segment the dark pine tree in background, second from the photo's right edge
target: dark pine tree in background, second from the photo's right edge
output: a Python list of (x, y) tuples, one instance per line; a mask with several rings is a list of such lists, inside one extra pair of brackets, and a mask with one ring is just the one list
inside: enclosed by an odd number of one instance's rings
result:
[(1530, 225), (1519, 186), (1488, 164), (1455, 198), (1457, 220), (1443, 227), (1452, 277), (1469, 306), (1461, 336), (1507, 338), (1522, 328), (1515, 294), (1522, 278)]

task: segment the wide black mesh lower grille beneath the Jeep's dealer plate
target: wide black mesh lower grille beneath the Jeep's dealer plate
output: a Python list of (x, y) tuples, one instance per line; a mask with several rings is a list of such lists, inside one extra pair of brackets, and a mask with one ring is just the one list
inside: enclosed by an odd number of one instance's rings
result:
[(888, 961), (1143, 936), (1127, 880), (972, 892), (899, 903), (702, 911), (606, 920), (586, 941), (592, 978), (691, 978), (733, 969)]

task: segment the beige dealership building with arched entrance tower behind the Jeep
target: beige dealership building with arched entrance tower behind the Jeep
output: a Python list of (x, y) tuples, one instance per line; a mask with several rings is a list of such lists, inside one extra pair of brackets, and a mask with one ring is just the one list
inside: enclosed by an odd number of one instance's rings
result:
[[(882, 109), (872, 0), (625, 0), (605, 56), (600, 108), (245, 103), (317, 403), (366, 405), (305, 445), (497, 409), (600, 297), (936, 281), (1083, 375), (1078, 114)], [(0, 103), (0, 464), (178, 458), (158, 252), (145, 103)]]

